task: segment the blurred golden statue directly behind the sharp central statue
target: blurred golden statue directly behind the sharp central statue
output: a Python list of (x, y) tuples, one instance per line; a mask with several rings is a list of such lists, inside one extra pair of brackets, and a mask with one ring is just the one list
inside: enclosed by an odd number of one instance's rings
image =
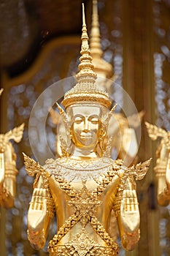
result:
[[(93, 15), (92, 26), (90, 32), (90, 53), (92, 56), (92, 63), (94, 72), (97, 74), (96, 83), (99, 89), (106, 90), (110, 94), (111, 86), (117, 75), (113, 74), (112, 65), (105, 61), (103, 51), (101, 50), (101, 35), (98, 23), (98, 7), (97, 0), (93, 0)], [(134, 114), (125, 118), (123, 113), (113, 113), (109, 121), (108, 135), (110, 138), (111, 148), (115, 148), (117, 158), (123, 159), (124, 164), (129, 166), (137, 162), (138, 143), (136, 140), (135, 129), (140, 126), (144, 112)], [(60, 122), (59, 113), (53, 108), (50, 109), (50, 117), (53, 124), (57, 126), (56, 141), (55, 141), (55, 155), (62, 156), (61, 137), (66, 138), (66, 129), (63, 123)]]

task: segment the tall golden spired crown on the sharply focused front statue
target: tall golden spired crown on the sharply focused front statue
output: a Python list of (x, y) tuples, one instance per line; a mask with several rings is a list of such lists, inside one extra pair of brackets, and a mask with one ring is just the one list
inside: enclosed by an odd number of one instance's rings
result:
[(77, 102), (95, 102), (105, 107), (109, 107), (112, 102), (106, 91), (98, 89), (96, 86), (96, 73), (93, 71), (92, 57), (88, 45), (88, 34), (85, 24), (84, 4), (82, 4), (82, 48), (80, 57), (80, 72), (77, 73), (77, 84), (68, 92), (63, 99), (65, 108)]

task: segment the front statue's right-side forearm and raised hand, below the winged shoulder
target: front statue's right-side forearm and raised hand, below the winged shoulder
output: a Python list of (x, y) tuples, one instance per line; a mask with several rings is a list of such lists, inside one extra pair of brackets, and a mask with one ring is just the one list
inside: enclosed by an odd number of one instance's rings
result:
[(125, 189), (117, 200), (119, 210), (116, 215), (121, 243), (126, 250), (133, 250), (139, 241), (140, 216), (136, 186), (132, 178), (126, 180)]

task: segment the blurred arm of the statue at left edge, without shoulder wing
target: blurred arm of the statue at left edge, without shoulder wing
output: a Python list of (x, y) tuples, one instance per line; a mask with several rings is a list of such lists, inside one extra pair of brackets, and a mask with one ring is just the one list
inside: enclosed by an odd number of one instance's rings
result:
[(4, 208), (12, 208), (15, 201), (16, 154), (12, 144), (7, 142), (5, 151), (0, 155), (0, 204)]

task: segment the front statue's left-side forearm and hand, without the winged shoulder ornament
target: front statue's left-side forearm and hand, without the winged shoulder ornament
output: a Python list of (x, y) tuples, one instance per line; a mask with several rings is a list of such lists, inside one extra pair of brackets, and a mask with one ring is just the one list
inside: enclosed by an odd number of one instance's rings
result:
[(35, 249), (45, 246), (53, 215), (53, 198), (49, 189), (43, 188), (42, 176), (39, 176), (28, 208), (28, 240)]

